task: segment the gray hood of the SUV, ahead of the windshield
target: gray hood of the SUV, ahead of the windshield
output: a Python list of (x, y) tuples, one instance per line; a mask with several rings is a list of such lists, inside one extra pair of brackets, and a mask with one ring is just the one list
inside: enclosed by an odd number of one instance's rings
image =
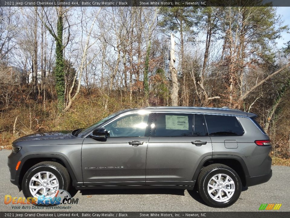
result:
[(18, 141), (28, 141), (28, 140), (51, 140), (51, 139), (65, 139), (72, 137), (72, 130), (63, 131), (53, 131), (53, 132), (43, 132), (30, 134), (16, 139), (14, 142)]

